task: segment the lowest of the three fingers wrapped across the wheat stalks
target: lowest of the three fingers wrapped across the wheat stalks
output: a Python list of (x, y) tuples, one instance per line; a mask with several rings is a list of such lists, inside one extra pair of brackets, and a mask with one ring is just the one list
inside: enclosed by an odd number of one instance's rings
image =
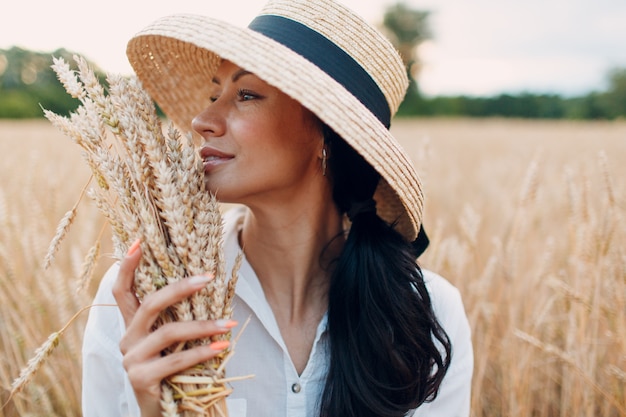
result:
[(141, 390), (140, 387), (158, 386), (163, 379), (206, 362), (229, 346), (228, 341), (219, 341), (140, 363), (131, 362), (125, 356), (124, 368), (132, 386)]

